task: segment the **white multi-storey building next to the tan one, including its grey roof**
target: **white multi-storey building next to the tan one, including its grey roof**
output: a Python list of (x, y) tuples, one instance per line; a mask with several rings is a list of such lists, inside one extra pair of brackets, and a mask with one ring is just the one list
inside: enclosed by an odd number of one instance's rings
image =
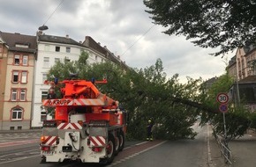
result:
[(32, 107), (31, 127), (41, 127), (43, 120), (46, 120), (47, 114), (45, 110), (41, 109), (41, 101), (47, 97), (49, 85), (43, 83), (47, 79), (49, 69), (56, 62), (64, 60), (64, 58), (77, 61), (83, 50), (89, 54), (89, 63), (106, 60), (106, 56), (102, 52), (72, 40), (68, 35), (57, 37), (39, 33), (37, 47), (37, 57), (34, 65), (34, 105)]

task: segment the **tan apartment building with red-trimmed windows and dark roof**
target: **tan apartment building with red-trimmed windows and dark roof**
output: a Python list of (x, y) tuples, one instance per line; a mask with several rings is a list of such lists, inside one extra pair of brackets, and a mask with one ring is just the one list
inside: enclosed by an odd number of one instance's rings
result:
[(0, 129), (31, 127), (35, 36), (0, 32)]

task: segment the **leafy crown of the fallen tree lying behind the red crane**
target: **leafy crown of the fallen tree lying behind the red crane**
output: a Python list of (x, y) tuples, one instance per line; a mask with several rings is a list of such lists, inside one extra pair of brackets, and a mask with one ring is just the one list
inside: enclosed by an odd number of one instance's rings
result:
[(187, 84), (178, 83), (178, 75), (167, 79), (162, 61), (145, 69), (124, 70), (111, 62), (87, 64), (87, 54), (82, 53), (77, 62), (57, 62), (49, 70), (49, 79), (56, 76), (61, 81), (69, 73), (78, 78), (102, 80), (97, 84), (102, 93), (117, 99), (129, 112), (128, 135), (130, 139), (145, 139), (147, 120), (154, 122), (154, 137), (165, 139), (193, 138), (192, 125), (198, 114), (188, 105), (174, 104), (173, 97), (200, 101), (197, 97), (200, 80), (188, 79)]

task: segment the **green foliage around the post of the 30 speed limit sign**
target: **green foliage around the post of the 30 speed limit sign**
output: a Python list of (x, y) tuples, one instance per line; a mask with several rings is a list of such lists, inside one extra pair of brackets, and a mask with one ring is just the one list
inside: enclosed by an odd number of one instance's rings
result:
[[(202, 113), (201, 123), (210, 121), (215, 127), (215, 132), (222, 135), (222, 137), (225, 137), (223, 113), (219, 112), (218, 107), (220, 104), (217, 102), (216, 97), (220, 92), (227, 93), (233, 84), (234, 80), (228, 74), (220, 76), (208, 91), (208, 97), (205, 100), (206, 105), (211, 105), (215, 108), (216, 113)], [(245, 104), (235, 105), (232, 99), (227, 105), (229, 110), (228, 113), (224, 114), (227, 130), (226, 138), (232, 140), (244, 135), (254, 125), (255, 114), (250, 113)]]

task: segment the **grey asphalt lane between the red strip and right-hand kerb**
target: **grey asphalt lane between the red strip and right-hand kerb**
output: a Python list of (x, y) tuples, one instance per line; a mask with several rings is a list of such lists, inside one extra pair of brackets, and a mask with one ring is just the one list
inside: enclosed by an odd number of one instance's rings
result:
[(109, 166), (118, 167), (207, 167), (207, 127), (194, 126), (195, 140), (164, 141), (156, 147), (134, 153)]

